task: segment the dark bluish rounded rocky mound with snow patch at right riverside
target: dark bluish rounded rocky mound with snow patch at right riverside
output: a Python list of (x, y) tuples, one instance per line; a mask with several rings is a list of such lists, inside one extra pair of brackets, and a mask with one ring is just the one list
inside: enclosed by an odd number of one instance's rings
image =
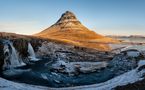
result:
[(115, 73), (115, 75), (123, 74), (129, 70), (137, 67), (139, 60), (145, 59), (145, 57), (137, 50), (126, 50), (114, 56), (109, 67)]

